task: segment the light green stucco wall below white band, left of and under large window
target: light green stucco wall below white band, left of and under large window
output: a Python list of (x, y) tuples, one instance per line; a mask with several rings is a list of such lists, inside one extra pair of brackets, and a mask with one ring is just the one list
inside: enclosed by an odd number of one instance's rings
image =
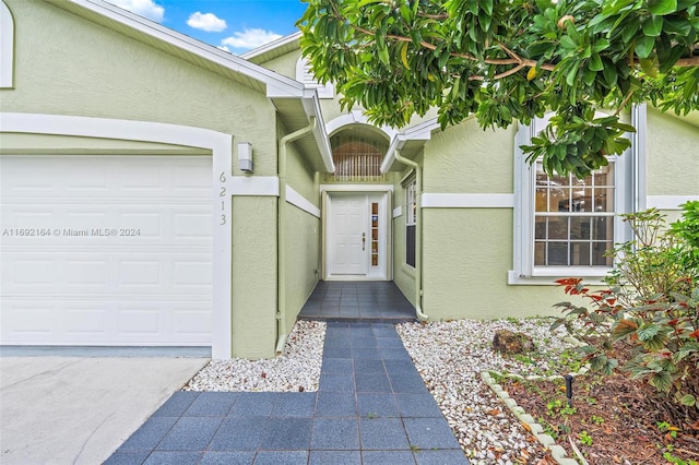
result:
[(556, 314), (554, 286), (509, 286), (511, 208), (423, 211), (423, 311), (431, 320)]

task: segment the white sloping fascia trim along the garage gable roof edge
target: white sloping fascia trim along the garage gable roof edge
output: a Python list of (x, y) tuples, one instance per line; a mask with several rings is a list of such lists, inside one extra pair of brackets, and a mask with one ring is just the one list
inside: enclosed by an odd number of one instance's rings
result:
[(251, 63), (240, 57), (236, 57), (235, 55), (221, 50), (214, 46), (188, 37), (168, 27), (162, 26), (129, 11), (115, 7), (110, 3), (102, 0), (71, 1), (94, 13), (100, 14), (112, 21), (147, 34), (151, 37), (155, 37), (175, 47), (194, 53), (205, 60), (221, 64), (222, 67), (225, 67), (232, 71), (262, 82), (266, 84), (268, 87), (273, 87), (275, 90), (275, 94), (283, 94), (275, 95), (277, 97), (300, 97), (303, 94), (304, 85), (291, 78), (277, 74), (274, 71), (270, 71), (258, 64)]

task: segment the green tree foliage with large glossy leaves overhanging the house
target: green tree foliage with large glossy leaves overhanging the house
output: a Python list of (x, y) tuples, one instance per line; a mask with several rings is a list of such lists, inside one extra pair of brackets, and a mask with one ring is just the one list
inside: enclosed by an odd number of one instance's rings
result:
[(554, 111), (524, 147), (549, 172), (584, 177), (621, 154), (632, 103), (699, 109), (699, 0), (304, 1), (303, 53), (343, 107), (393, 127), (436, 107), (442, 128)]

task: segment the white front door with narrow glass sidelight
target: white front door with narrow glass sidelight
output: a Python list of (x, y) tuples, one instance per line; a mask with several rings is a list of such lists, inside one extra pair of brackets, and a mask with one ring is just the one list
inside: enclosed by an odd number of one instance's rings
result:
[(329, 192), (328, 279), (387, 279), (386, 193)]

